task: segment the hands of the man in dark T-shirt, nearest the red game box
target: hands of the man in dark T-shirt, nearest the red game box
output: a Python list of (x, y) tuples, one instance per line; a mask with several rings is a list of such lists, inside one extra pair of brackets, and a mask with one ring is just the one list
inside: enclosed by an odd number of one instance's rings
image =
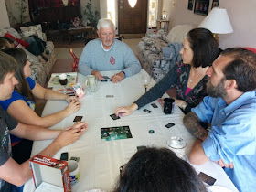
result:
[(73, 144), (80, 138), (80, 135), (82, 135), (87, 128), (88, 125), (86, 122), (75, 123), (73, 126), (61, 131), (53, 143), (56, 143), (61, 147)]

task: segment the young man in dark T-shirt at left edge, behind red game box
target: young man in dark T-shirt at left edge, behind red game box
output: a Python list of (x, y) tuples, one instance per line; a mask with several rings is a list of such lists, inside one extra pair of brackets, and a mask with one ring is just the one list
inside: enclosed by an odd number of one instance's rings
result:
[[(12, 96), (18, 84), (14, 73), (18, 69), (16, 59), (0, 51), (0, 101)], [(87, 128), (87, 123), (76, 123), (64, 130), (49, 130), (35, 125), (18, 123), (0, 106), (0, 191), (16, 191), (32, 177), (29, 162), (19, 165), (12, 158), (10, 133), (31, 139), (54, 139), (39, 155), (53, 156), (62, 147), (76, 142)], [(22, 191), (22, 189), (20, 189)]]

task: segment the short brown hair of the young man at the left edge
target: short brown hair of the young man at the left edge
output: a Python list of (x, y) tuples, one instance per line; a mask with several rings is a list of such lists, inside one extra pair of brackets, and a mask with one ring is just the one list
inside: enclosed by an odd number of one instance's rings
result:
[(8, 73), (15, 73), (16, 69), (16, 59), (0, 51), (0, 84), (3, 83), (3, 80)]

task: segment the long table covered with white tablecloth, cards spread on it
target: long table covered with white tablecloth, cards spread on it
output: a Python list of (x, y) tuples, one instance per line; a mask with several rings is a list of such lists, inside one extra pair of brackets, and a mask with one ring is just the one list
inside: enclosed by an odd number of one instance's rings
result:
[[(102, 75), (112, 77), (117, 71), (103, 71)], [(75, 116), (83, 116), (82, 121), (87, 121), (89, 129), (84, 133), (80, 140), (75, 144), (70, 144), (62, 148), (54, 158), (59, 158), (63, 152), (69, 152), (69, 157), (80, 157), (80, 182), (72, 187), (72, 191), (83, 192), (91, 188), (101, 188), (110, 191), (119, 176), (119, 167), (127, 163), (130, 157), (137, 151), (137, 146), (166, 146), (166, 139), (176, 135), (182, 137), (187, 142), (185, 149), (188, 154), (195, 137), (187, 132), (182, 123), (183, 112), (175, 107), (173, 114), (166, 115), (161, 110), (161, 106), (155, 101), (158, 108), (153, 108), (150, 104), (142, 109), (133, 112), (130, 116), (121, 117), (113, 121), (109, 116), (116, 107), (130, 105), (144, 94), (142, 84), (142, 75), (146, 74), (144, 69), (139, 74), (124, 79), (121, 83), (113, 84), (112, 82), (101, 82), (100, 89), (83, 97), (81, 109), (79, 112), (71, 114), (60, 123), (52, 126), (51, 129), (65, 128), (73, 124)], [(78, 80), (84, 82), (85, 77), (78, 75)], [(151, 80), (149, 87), (155, 84)], [(58, 89), (58, 88), (57, 88)], [(113, 95), (113, 98), (106, 98), (106, 95)], [(165, 95), (166, 96), (166, 95)], [(67, 106), (66, 101), (48, 101), (42, 113), (43, 116), (59, 112)], [(151, 110), (146, 113), (144, 109)], [(165, 124), (173, 122), (176, 125), (170, 129), (165, 128)], [(132, 132), (132, 139), (102, 141), (101, 129), (103, 127), (129, 125)], [(155, 130), (155, 133), (148, 133), (149, 130)], [(43, 150), (52, 141), (37, 141), (33, 144), (32, 155), (36, 155)], [(194, 165), (197, 173), (200, 171), (213, 176), (217, 179), (216, 185), (228, 187), (232, 191), (237, 191), (236, 187), (229, 180), (223, 169), (208, 161), (204, 165)], [(33, 191), (33, 181), (30, 179), (25, 185), (24, 191)]]

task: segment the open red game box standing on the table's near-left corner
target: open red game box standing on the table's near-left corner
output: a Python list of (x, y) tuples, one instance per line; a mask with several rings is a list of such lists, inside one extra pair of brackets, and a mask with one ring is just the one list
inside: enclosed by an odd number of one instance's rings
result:
[(35, 155), (29, 164), (36, 188), (45, 182), (55, 187), (61, 187), (64, 192), (71, 191), (69, 167), (66, 161)]

